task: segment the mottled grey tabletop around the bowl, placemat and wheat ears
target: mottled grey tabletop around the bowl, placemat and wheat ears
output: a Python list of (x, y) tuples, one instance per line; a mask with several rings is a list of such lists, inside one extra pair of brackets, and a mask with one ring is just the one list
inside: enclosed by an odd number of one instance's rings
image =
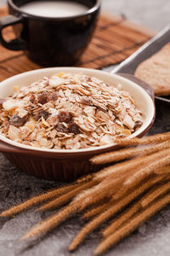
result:
[[(0, 7), (5, 3), (5, 0), (0, 0)], [(133, 20), (134, 23), (155, 32), (161, 31), (169, 23), (170, 2), (167, 0), (105, 0), (102, 8), (112, 14), (124, 15), (127, 20)], [(103, 69), (105, 72), (111, 72), (114, 67), (111, 65)], [(170, 131), (168, 104), (156, 101), (156, 121), (149, 131), (150, 135)], [(3, 154), (0, 154), (0, 212), (59, 185), (61, 183), (41, 180), (20, 172), (4, 158)], [(35, 212), (33, 208), (14, 218), (0, 218), (0, 255), (93, 255), (94, 248), (99, 242), (99, 234), (95, 231), (75, 253), (68, 251), (71, 240), (81, 229), (83, 221), (80, 218), (71, 218), (40, 241), (29, 244), (19, 241), (26, 230), (45, 217), (48, 217), (48, 212)], [(170, 207), (167, 206), (132, 235), (112, 247), (105, 256), (166, 256), (170, 253), (169, 239)]]

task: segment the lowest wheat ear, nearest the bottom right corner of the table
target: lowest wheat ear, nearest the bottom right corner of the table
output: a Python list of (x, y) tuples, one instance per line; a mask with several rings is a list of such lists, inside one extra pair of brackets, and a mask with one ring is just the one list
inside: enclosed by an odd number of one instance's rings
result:
[(147, 207), (142, 212), (136, 214), (134, 218), (127, 224), (123, 225), (121, 229), (116, 230), (111, 236), (105, 238), (104, 241), (99, 243), (99, 246), (95, 249), (94, 254), (99, 255), (105, 253), (106, 250), (114, 246), (117, 242), (121, 241), (122, 238), (128, 236), (133, 230), (136, 230), (139, 225), (143, 224), (148, 218), (160, 211), (162, 207), (165, 207), (170, 203), (170, 195), (165, 195), (161, 199), (156, 200), (150, 207)]

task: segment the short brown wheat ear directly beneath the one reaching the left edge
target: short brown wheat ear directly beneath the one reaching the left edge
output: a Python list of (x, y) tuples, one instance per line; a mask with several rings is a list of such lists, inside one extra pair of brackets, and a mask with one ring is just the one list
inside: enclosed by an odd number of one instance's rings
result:
[(48, 202), (44, 206), (39, 207), (37, 209), (37, 211), (48, 211), (48, 210), (51, 210), (51, 209), (54, 209), (54, 208), (57, 208), (57, 207), (61, 207), (65, 203), (67, 203), (68, 201), (71, 201), (71, 199), (75, 195), (77, 195), (79, 192), (81, 192), (84, 189), (89, 189), (94, 185), (96, 185), (96, 181), (94, 181), (94, 180), (91, 180), (88, 183), (84, 183), (81, 186), (78, 186), (77, 188), (72, 189), (71, 191), (69, 191), (65, 195), (61, 195), (59, 198), (56, 198), (53, 201)]

